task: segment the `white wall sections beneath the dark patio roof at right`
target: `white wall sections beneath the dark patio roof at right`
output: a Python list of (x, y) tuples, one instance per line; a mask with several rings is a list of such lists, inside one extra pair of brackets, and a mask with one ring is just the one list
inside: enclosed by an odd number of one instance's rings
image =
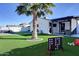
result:
[[(62, 22), (62, 21), (60, 21)], [(57, 33), (61, 33), (59, 32), (59, 21), (56, 21), (56, 22), (53, 22), (55, 24), (57, 24), (56, 27), (52, 27), (53, 29), (53, 34), (57, 34)], [(62, 22), (62, 23), (65, 23), (65, 31), (66, 30), (70, 30), (71, 31), (71, 34), (79, 34), (79, 20), (76, 20), (75, 18), (71, 19), (71, 25), (70, 25), (70, 22), (69, 21), (66, 21), (66, 22)], [(71, 26), (71, 28), (70, 28)]]

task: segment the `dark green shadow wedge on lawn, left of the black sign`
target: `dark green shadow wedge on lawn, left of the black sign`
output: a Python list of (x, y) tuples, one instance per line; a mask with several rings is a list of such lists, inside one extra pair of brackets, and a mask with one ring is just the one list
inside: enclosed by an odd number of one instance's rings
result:
[(9, 52), (6, 52), (0, 55), (2, 56), (47, 56), (48, 55), (47, 42), (25, 47), (25, 48), (13, 49)]

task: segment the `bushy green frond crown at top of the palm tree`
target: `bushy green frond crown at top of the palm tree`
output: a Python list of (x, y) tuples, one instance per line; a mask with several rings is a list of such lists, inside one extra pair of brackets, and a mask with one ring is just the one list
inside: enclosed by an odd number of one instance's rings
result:
[(41, 17), (45, 14), (52, 14), (50, 8), (55, 7), (53, 3), (21, 3), (17, 6), (16, 12), (21, 15), (32, 15), (32, 11), (36, 11), (37, 16)]

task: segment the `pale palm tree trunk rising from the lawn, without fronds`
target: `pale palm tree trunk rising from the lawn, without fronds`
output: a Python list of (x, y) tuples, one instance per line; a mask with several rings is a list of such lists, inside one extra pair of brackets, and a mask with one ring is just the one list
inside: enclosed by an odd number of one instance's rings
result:
[(36, 12), (33, 11), (33, 32), (32, 39), (37, 39), (37, 15)]

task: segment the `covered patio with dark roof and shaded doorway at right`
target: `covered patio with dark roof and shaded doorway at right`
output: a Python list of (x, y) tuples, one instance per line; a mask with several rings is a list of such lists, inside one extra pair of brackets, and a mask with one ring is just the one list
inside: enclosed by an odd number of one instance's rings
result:
[(68, 16), (52, 19), (53, 35), (72, 35), (77, 34), (78, 17)]

